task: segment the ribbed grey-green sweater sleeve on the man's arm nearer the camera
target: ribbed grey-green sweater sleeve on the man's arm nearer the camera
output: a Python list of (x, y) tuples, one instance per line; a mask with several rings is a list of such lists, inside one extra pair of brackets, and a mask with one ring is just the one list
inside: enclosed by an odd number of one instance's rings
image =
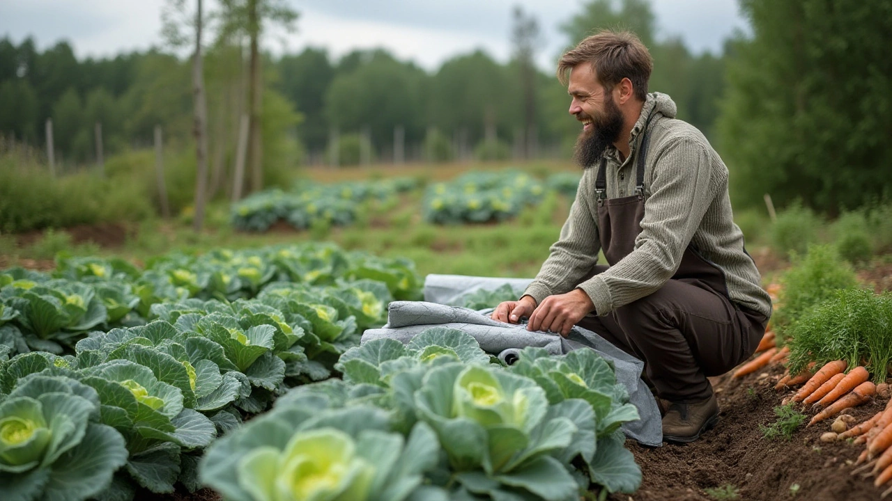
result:
[(599, 315), (656, 292), (681, 265), (719, 182), (706, 148), (681, 138), (657, 158), (635, 249), (579, 286)]

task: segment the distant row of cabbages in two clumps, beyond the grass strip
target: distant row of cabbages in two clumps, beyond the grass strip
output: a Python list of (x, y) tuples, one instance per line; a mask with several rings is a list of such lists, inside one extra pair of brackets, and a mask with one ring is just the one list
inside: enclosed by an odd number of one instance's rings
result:
[[(544, 183), (528, 174), (506, 171), (469, 173), (450, 183), (428, 187), (425, 219), (433, 223), (483, 223), (514, 218), (521, 209), (541, 201), (546, 193), (573, 198), (580, 176), (558, 173)], [(267, 231), (277, 221), (303, 230), (314, 225), (348, 226), (368, 201), (392, 201), (397, 193), (417, 187), (415, 179), (310, 185), (293, 192), (255, 193), (232, 208), (232, 225), (242, 231)]]

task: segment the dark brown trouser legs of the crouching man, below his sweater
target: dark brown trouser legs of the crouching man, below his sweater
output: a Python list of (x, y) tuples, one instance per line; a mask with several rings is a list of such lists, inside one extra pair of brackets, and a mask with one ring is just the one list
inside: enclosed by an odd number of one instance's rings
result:
[(713, 393), (706, 376), (725, 374), (756, 351), (766, 323), (699, 280), (682, 278), (579, 325), (643, 360), (657, 396), (694, 402)]

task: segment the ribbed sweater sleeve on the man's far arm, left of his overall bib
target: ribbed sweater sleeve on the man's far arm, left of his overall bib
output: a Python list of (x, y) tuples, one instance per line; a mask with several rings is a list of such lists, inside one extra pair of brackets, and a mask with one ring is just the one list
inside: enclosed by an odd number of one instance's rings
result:
[(558, 242), (551, 245), (549, 258), (524, 292), (524, 296), (532, 297), (537, 305), (552, 294), (572, 291), (598, 262), (601, 244), (598, 224), (590, 209), (590, 203), (594, 203), (591, 199), (591, 171), (590, 168), (582, 173), (576, 199), (560, 230)]

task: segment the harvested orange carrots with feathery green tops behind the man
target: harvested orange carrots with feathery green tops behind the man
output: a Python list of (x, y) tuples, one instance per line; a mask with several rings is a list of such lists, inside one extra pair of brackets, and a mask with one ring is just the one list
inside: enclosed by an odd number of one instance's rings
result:
[(837, 249), (810, 247), (769, 288), (775, 300), (773, 327), (756, 358), (735, 376), (782, 363), (784, 374), (775, 389), (795, 391), (775, 409), (780, 419), (764, 428), (766, 437), (789, 439), (806, 421), (812, 426), (836, 418), (821, 439), (865, 444), (856, 464), (866, 462), (862, 470), (870, 470), (879, 487), (892, 479), (892, 403), (863, 423), (845, 413), (890, 396), (892, 292), (877, 294), (859, 286)]

